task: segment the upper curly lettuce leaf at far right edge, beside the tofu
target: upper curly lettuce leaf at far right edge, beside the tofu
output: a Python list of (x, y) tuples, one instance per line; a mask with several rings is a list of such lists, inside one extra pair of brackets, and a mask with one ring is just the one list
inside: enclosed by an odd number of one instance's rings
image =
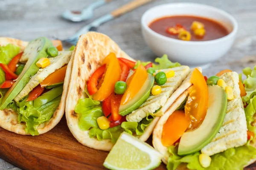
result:
[(242, 97), (243, 102), (250, 103), (250, 99), (256, 95), (256, 66), (253, 69), (247, 67), (243, 69), (243, 74), (247, 76), (244, 80), (246, 96)]

